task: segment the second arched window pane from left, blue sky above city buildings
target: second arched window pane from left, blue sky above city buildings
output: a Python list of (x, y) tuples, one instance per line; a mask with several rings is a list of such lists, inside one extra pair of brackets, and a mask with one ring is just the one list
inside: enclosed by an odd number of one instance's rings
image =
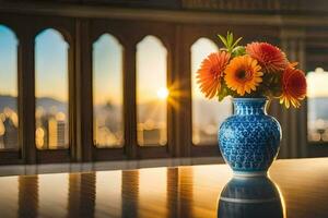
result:
[(55, 29), (35, 39), (35, 142), (38, 149), (69, 147), (68, 44)]

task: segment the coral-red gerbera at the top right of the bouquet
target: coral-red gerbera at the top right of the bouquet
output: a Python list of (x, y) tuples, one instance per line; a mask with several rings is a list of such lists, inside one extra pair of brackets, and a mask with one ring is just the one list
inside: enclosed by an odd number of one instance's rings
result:
[(246, 52), (259, 62), (266, 73), (282, 72), (288, 66), (284, 52), (271, 44), (248, 44)]

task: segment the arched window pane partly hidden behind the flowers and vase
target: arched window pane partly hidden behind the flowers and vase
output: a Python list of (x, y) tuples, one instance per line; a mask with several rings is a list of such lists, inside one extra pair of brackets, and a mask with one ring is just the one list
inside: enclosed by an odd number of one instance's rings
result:
[(222, 102), (219, 102), (215, 97), (211, 100), (206, 99), (196, 83), (196, 73), (201, 61), (211, 52), (216, 51), (216, 45), (207, 38), (200, 38), (191, 46), (194, 145), (215, 145), (218, 143), (218, 126), (232, 113), (232, 104), (230, 99), (224, 99)]

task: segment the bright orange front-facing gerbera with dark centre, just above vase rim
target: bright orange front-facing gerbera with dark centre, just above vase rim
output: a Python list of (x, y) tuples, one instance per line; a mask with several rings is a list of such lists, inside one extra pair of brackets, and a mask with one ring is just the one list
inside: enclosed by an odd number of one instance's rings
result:
[(244, 96), (245, 93), (256, 90), (256, 86), (262, 82), (263, 73), (260, 70), (261, 66), (255, 59), (249, 56), (239, 56), (227, 64), (224, 80), (227, 87)]

